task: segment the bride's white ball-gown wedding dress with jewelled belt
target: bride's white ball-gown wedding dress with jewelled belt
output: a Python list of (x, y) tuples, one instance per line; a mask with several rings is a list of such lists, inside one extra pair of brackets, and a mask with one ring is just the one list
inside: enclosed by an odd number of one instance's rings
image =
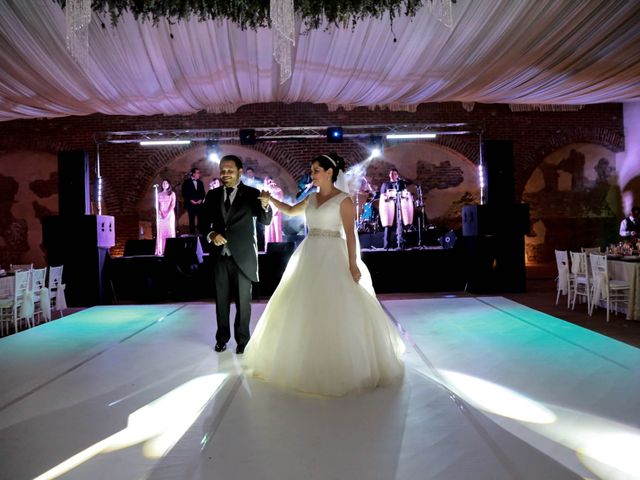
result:
[[(378, 302), (369, 270), (349, 272), (340, 193), (306, 209), (308, 235), (289, 260), (245, 350), (255, 376), (307, 393), (340, 396), (403, 374), (404, 344)], [(358, 252), (359, 253), (359, 252)]]

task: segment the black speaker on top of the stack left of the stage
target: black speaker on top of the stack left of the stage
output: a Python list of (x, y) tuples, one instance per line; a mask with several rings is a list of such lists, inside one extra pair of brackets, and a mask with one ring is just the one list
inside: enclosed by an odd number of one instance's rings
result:
[(84, 150), (58, 152), (58, 213), (79, 216), (91, 213), (89, 155)]

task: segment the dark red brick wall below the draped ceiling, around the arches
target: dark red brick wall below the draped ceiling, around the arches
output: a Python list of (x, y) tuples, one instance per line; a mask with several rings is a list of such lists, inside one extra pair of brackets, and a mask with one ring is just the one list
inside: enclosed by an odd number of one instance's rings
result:
[[(256, 104), (233, 114), (197, 113), (183, 116), (107, 116), (17, 120), (0, 123), (0, 153), (15, 150), (55, 153), (61, 149), (85, 149), (92, 167), (96, 158), (95, 135), (107, 131), (208, 129), (250, 127), (296, 127), (318, 125), (373, 125), (402, 123), (453, 123), (480, 125), (485, 139), (507, 139), (514, 144), (516, 198), (540, 161), (557, 148), (590, 142), (614, 152), (624, 148), (622, 105), (588, 105), (575, 112), (517, 112), (507, 105), (476, 104), (471, 112), (460, 103), (419, 106), (416, 112), (356, 108), (329, 111), (316, 104)], [(449, 148), (472, 162), (478, 161), (477, 136), (442, 136), (435, 143)], [(136, 206), (157, 175), (184, 148), (142, 148), (134, 144), (101, 145), (100, 164), (105, 183), (106, 213), (116, 216), (118, 246), (122, 252), (129, 238), (137, 238)], [(366, 157), (365, 148), (353, 141), (327, 145), (324, 141), (283, 141), (260, 143), (254, 147), (282, 165), (294, 178), (306, 171), (313, 156), (336, 151), (350, 162)], [(447, 181), (447, 179), (443, 179)]]

